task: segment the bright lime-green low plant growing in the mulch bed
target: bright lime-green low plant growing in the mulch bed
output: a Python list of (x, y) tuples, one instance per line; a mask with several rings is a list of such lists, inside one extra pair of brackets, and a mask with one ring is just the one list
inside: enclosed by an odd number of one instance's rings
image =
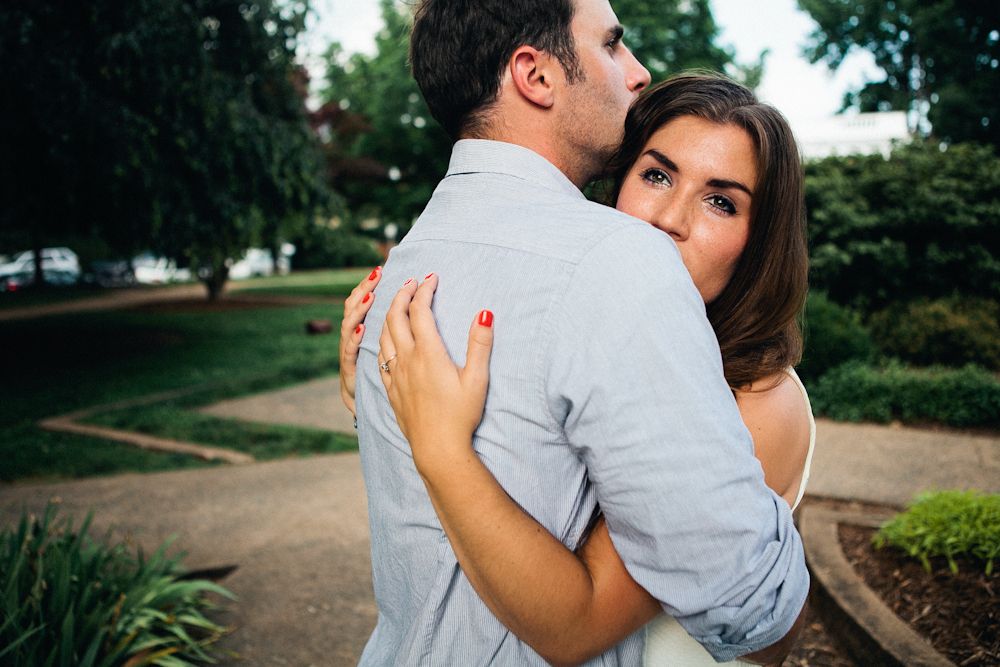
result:
[(902, 549), (931, 571), (930, 559), (943, 556), (958, 573), (957, 556), (985, 563), (993, 573), (1000, 555), (1000, 494), (978, 491), (937, 491), (917, 496), (905, 512), (896, 515), (875, 534), (877, 549)]

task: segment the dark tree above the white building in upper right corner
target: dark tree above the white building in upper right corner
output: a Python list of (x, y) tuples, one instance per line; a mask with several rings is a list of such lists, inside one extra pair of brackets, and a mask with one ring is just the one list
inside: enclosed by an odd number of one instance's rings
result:
[(909, 111), (926, 117), (940, 139), (1000, 144), (1000, 4), (799, 0), (799, 7), (817, 23), (810, 60), (836, 69), (862, 49), (885, 72), (848, 93), (845, 108)]

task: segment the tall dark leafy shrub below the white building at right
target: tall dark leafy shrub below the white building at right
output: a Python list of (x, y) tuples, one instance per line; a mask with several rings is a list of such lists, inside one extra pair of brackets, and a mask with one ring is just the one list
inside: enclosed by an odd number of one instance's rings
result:
[(808, 162), (810, 283), (863, 314), (953, 293), (1000, 299), (1000, 156), (913, 142)]

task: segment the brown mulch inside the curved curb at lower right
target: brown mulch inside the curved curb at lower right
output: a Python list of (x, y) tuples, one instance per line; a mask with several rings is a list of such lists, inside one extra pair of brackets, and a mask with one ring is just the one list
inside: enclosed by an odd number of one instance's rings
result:
[(868, 587), (956, 665), (1000, 665), (1000, 574), (986, 576), (982, 563), (961, 559), (953, 575), (943, 558), (928, 573), (899, 551), (876, 551), (874, 533), (840, 526), (844, 554)]

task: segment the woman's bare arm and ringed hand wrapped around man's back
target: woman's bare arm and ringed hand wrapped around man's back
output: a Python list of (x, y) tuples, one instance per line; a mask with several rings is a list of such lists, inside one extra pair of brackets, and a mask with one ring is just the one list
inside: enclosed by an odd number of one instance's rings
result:
[[(457, 368), (431, 314), (436, 285), (436, 276), (419, 289), (415, 282), (404, 285), (389, 309), (379, 361), (390, 360), (389, 372), (382, 373), (390, 403), (473, 588), (546, 660), (581, 662), (652, 619), (659, 603), (628, 574), (603, 521), (574, 554), (525, 513), (482, 464), (472, 434), (485, 404), (492, 321), (473, 323), (466, 366)], [(751, 403), (757, 410), (766, 407), (765, 401)], [(426, 419), (430, 414), (435, 419)], [(782, 650), (748, 658), (771, 660)]]

